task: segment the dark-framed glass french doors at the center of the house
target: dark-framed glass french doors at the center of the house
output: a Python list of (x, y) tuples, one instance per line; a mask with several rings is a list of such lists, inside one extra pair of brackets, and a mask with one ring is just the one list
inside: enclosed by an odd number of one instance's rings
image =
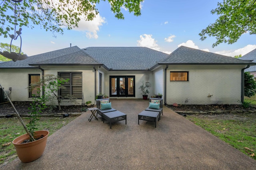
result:
[(110, 97), (135, 97), (135, 76), (110, 76)]

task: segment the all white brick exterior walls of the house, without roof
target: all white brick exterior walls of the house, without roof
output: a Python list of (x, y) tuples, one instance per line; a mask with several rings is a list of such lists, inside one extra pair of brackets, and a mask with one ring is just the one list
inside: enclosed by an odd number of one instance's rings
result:
[[(82, 72), (82, 85), (84, 100), (94, 101), (95, 84), (94, 68), (92, 66), (42, 66), (44, 74), (57, 75), (58, 72)], [(135, 76), (135, 98), (142, 98), (138, 89), (141, 81), (150, 82), (150, 93), (164, 95), (164, 68), (148, 71), (106, 71), (104, 68), (97, 70), (97, 93), (98, 75), (102, 73), (102, 93), (109, 94), (109, 76)], [(172, 66), (167, 70), (166, 103), (167, 104), (238, 104), (241, 100), (241, 70), (243, 66)], [(171, 82), (170, 71), (188, 71), (188, 82)], [(30, 101), (28, 98), (28, 74), (42, 74), (41, 70), (35, 69), (1, 69), (0, 83), (5, 90), (12, 87), (10, 98), (12, 101)], [(208, 95), (212, 95), (208, 97)], [(125, 97), (126, 98), (126, 97)], [(134, 98), (134, 97), (128, 97)], [(163, 96), (164, 98), (164, 96)], [(81, 104), (82, 100), (78, 100)], [(72, 104), (62, 102), (62, 105)]]

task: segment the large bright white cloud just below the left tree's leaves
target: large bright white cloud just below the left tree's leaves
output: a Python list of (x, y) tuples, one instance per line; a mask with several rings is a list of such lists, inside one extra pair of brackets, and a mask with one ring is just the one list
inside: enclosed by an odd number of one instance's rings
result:
[(86, 32), (87, 38), (98, 38), (98, 31), (100, 31), (100, 26), (106, 23), (105, 18), (101, 17), (100, 14), (96, 15), (96, 18), (92, 21), (80, 20), (78, 27), (73, 28), (76, 31)]

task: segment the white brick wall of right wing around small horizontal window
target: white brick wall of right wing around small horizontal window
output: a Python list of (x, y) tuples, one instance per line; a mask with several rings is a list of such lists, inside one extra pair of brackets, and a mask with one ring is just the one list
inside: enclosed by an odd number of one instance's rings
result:
[[(238, 104), (241, 70), (238, 66), (170, 66), (167, 70), (167, 104)], [(228, 68), (228, 69), (227, 69)], [(188, 82), (171, 82), (170, 71), (188, 71)], [(208, 97), (208, 95), (212, 95)]]

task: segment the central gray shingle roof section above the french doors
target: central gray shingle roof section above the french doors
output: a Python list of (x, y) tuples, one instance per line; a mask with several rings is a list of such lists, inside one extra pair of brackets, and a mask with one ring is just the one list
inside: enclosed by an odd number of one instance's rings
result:
[(113, 70), (146, 70), (168, 56), (147, 47), (88, 47), (84, 51)]

